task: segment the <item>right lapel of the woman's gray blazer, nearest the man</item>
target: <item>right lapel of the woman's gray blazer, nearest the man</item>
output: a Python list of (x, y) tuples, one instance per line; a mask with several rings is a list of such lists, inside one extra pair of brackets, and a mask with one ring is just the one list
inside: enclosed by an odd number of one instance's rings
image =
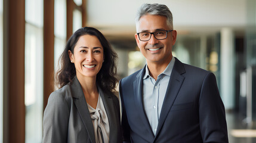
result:
[(100, 93), (100, 97), (103, 101), (104, 104), (104, 108), (106, 110), (107, 113), (107, 118), (109, 120), (109, 142), (116, 142), (116, 138), (114, 137), (114, 135), (117, 134), (117, 130), (116, 130), (116, 119), (118, 119), (118, 117), (116, 117), (117, 115), (115, 114), (115, 107), (114, 107), (114, 102), (112, 97), (110, 97), (109, 94), (104, 94), (104, 92), (101, 90), (101, 88), (98, 86), (98, 92)]

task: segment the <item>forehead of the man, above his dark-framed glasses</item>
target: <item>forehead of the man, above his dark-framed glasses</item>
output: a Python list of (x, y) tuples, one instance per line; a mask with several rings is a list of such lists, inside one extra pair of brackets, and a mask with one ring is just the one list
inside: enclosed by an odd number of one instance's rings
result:
[(169, 30), (167, 18), (162, 15), (143, 15), (138, 21), (138, 31), (154, 32), (156, 29)]

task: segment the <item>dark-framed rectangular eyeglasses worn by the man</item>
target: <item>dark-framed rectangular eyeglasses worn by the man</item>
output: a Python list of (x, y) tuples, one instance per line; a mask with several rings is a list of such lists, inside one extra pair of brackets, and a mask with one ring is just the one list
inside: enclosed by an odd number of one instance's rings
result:
[(151, 35), (153, 34), (154, 37), (158, 40), (166, 39), (167, 38), (167, 33), (172, 32), (173, 30), (161, 30), (157, 32), (140, 32), (137, 33), (138, 39), (140, 41), (149, 41), (151, 38)]

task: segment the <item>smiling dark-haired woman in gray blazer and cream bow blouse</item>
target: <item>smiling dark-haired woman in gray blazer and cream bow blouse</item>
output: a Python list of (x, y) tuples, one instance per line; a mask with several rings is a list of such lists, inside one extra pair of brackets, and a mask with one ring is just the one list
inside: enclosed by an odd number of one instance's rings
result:
[(113, 94), (116, 53), (92, 27), (67, 41), (57, 71), (60, 89), (44, 111), (43, 142), (122, 142), (118, 98)]

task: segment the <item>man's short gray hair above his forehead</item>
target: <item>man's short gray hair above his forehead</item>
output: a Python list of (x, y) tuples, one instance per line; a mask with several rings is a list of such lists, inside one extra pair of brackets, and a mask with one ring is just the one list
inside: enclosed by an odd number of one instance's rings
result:
[(135, 18), (137, 32), (138, 32), (138, 24), (139, 24), (140, 18), (143, 15), (147, 15), (147, 14), (165, 16), (167, 25), (170, 27), (170, 29), (173, 29), (172, 13), (166, 5), (162, 5), (162, 4), (143, 4), (138, 9), (137, 17)]

